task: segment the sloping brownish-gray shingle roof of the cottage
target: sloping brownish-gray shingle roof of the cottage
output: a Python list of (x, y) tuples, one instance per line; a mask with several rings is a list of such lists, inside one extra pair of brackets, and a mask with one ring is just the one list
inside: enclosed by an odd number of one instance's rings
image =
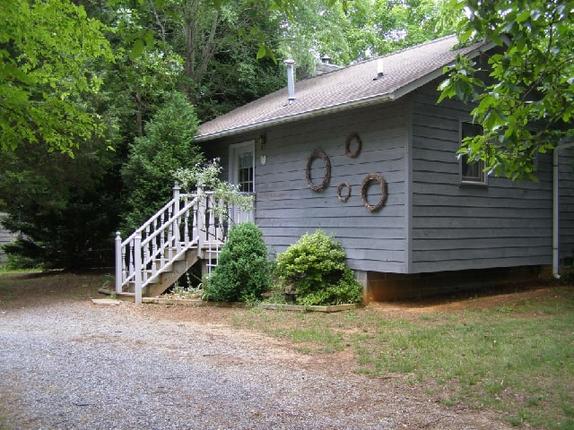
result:
[[(352, 107), (368, 106), (404, 94), (439, 77), (458, 54), (475, 56), (486, 47), (476, 43), (453, 49), (456, 36), (448, 36), (382, 56), (384, 76), (377, 76), (378, 58), (321, 74), (295, 83), (295, 97), (287, 101), (287, 89), (277, 90), (245, 106), (200, 125), (196, 141), (257, 130)], [(285, 80), (286, 82), (286, 80)]]

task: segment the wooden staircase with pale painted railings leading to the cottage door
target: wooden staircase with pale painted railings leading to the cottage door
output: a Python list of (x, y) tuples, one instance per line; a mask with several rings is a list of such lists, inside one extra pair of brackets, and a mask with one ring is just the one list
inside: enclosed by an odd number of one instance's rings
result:
[(230, 226), (251, 220), (251, 211), (216, 202), (202, 190), (180, 194), (176, 184), (170, 202), (131, 236), (122, 240), (117, 232), (114, 294), (141, 304), (142, 297), (160, 296), (196, 263), (208, 274)]

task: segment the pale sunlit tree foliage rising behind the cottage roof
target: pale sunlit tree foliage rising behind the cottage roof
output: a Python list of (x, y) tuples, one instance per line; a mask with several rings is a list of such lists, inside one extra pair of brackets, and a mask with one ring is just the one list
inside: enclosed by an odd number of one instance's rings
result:
[(308, 0), (284, 15), (278, 55), (312, 75), (321, 56), (348, 65), (452, 33), (445, 16), (435, 0)]

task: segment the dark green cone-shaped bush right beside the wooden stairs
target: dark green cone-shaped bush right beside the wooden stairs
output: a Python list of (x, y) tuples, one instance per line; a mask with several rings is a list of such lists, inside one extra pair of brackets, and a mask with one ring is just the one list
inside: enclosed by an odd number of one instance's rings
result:
[(271, 287), (271, 262), (263, 233), (252, 222), (230, 229), (219, 263), (205, 286), (204, 300), (252, 301)]

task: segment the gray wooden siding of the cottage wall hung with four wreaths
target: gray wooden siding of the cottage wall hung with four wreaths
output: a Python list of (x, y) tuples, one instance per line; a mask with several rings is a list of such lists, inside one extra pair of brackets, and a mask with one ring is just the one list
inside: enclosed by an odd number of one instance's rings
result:
[[(344, 148), (350, 133), (359, 133), (362, 141), (361, 154), (354, 159)], [(231, 143), (256, 139), (258, 134), (208, 143), (207, 153), (222, 156)], [(342, 243), (352, 269), (404, 272), (404, 103), (277, 126), (265, 130), (265, 137), (265, 150), (256, 148), (256, 222), (272, 252), (281, 253), (303, 234), (320, 228)], [(331, 179), (321, 193), (310, 190), (306, 178), (307, 159), (316, 148), (331, 162)], [(259, 160), (262, 153), (267, 156), (265, 166)], [(318, 185), (324, 175), (322, 160), (312, 166), (313, 183)], [(388, 193), (385, 206), (374, 212), (361, 202), (361, 183), (371, 172), (385, 178)], [(337, 199), (337, 186), (343, 182), (352, 187), (348, 202)], [(369, 202), (379, 197), (377, 187), (370, 186)]]

